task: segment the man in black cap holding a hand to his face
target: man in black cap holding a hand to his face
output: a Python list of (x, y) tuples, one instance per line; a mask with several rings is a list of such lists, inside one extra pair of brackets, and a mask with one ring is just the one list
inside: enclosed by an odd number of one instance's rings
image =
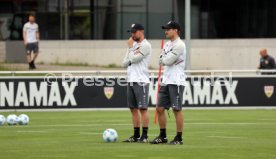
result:
[[(151, 44), (144, 37), (144, 27), (141, 24), (132, 24), (131, 37), (128, 39), (128, 49), (123, 60), (127, 68), (127, 104), (132, 115), (134, 134), (124, 142), (148, 142), (148, 92), (149, 75), (148, 65), (152, 52)], [(142, 135), (140, 136), (140, 122)]]

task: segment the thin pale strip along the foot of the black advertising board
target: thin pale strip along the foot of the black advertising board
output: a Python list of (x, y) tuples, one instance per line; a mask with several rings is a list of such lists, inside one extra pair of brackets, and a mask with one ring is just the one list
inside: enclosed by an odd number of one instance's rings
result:
[[(183, 107), (183, 110), (276, 110), (276, 106), (247, 107)], [(129, 108), (52, 108), (52, 109), (0, 109), (0, 112), (62, 112), (62, 111), (128, 111)], [(150, 107), (149, 110), (155, 110)]]

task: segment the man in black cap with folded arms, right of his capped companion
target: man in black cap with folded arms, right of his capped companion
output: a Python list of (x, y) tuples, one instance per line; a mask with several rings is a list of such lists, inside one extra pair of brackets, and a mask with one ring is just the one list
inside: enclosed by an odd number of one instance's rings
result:
[(177, 22), (170, 21), (167, 25), (162, 26), (168, 41), (161, 52), (159, 63), (164, 66), (163, 79), (158, 94), (158, 122), (160, 134), (151, 144), (167, 143), (166, 135), (166, 115), (165, 109), (172, 108), (176, 120), (176, 136), (170, 141), (172, 145), (183, 144), (183, 115), (182, 100), (185, 84), (185, 60), (186, 47), (180, 39), (180, 25)]

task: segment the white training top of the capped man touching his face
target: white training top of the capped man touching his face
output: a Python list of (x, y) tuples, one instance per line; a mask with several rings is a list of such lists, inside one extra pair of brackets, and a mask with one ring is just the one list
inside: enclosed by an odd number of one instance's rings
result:
[(150, 82), (148, 65), (151, 53), (151, 44), (146, 39), (134, 42), (133, 47), (128, 48), (123, 60), (124, 67), (127, 67), (127, 82)]

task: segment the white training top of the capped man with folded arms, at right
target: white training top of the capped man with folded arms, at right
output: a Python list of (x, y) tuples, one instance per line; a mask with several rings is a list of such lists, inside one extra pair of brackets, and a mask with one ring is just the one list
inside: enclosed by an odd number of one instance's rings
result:
[(186, 80), (185, 62), (185, 43), (180, 38), (166, 42), (160, 56), (160, 63), (165, 66), (162, 83), (184, 85)]

